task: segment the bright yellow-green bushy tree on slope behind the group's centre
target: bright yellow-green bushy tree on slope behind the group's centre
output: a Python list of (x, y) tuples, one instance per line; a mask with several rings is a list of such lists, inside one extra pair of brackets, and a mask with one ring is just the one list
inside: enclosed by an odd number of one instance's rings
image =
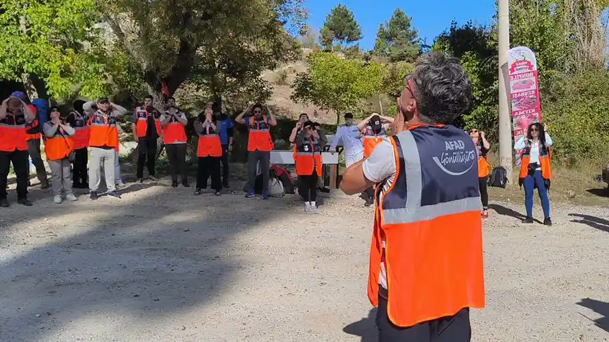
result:
[(358, 109), (362, 100), (382, 88), (382, 64), (364, 64), (323, 52), (311, 53), (307, 62), (307, 72), (299, 73), (292, 85), (292, 99), (334, 110), (337, 124), (343, 111)]

